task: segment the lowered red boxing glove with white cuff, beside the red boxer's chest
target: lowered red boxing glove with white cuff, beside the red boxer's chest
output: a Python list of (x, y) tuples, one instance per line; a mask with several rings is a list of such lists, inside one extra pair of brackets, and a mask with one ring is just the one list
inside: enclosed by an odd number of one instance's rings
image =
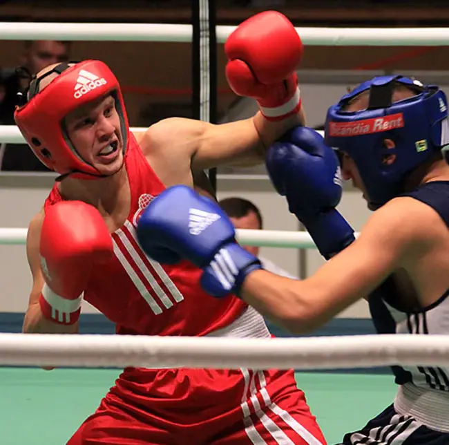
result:
[(76, 323), (95, 263), (108, 260), (112, 253), (111, 235), (95, 207), (81, 201), (48, 207), (40, 241), (46, 284), (39, 303), (45, 318), (64, 325)]

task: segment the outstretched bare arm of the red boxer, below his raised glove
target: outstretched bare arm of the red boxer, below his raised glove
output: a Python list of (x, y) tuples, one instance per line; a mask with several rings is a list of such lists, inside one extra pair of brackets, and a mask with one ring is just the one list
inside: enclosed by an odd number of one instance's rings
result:
[(265, 150), (287, 130), (303, 125), (301, 111), (279, 122), (271, 122), (260, 113), (247, 120), (227, 124), (209, 124), (173, 117), (151, 126), (143, 137), (142, 148), (157, 150), (173, 160), (187, 157), (195, 169), (229, 164), (259, 164)]

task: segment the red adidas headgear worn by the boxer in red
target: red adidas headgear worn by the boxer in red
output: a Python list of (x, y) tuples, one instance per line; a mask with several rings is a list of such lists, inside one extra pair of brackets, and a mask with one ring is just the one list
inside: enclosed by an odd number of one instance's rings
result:
[[(59, 69), (58, 69), (59, 68)], [(59, 73), (46, 88), (39, 82), (50, 73)], [(33, 95), (32, 88), (37, 89)], [(70, 142), (64, 117), (79, 106), (111, 93), (120, 117), (123, 149), (129, 140), (128, 118), (120, 85), (112, 71), (99, 60), (86, 60), (73, 66), (59, 64), (30, 84), (30, 100), (16, 109), (14, 118), (37, 158), (60, 175), (79, 179), (97, 179), (102, 174), (84, 161)]]

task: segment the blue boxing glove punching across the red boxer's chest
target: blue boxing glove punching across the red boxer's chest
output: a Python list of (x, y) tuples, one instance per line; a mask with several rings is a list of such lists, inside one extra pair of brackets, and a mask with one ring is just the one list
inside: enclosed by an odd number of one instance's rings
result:
[(225, 212), (184, 185), (160, 193), (137, 223), (137, 240), (148, 256), (161, 264), (191, 261), (204, 271), (202, 288), (217, 297), (238, 295), (247, 274), (262, 269), (235, 237)]

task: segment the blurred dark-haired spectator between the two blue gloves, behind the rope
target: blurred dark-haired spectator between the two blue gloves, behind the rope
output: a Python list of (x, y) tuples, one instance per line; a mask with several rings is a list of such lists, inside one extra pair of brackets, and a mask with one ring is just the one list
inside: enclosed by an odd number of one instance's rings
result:
[[(253, 202), (243, 198), (225, 198), (218, 202), (220, 207), (225, 211), (229, 219), (232, 221), (236, 229), (251, 229), (262, 230), (263, 220), (260, 210)], [(298, 279), (296, 276), (292, 276), (286, 270), (282, 269), (278, 265), (269, 261), (267, 258), (259, 256), (259, 247), (257, 246), (243, 246), (250, 254), (258, 256), (263, 267), (269, 272), (278, 274), (280, 276), (287, 276), (288, 278)]]

